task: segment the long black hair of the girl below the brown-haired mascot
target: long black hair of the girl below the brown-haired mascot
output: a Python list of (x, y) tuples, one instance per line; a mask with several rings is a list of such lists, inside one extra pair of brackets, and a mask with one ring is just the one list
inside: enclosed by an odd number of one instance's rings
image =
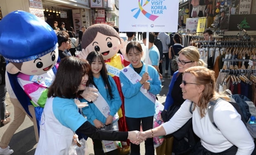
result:
[[(112, 78), (112, 77), (109, 77), (109, 75), (108, 75), (107, 68), (105, 66), (105, 62), (104, 62), (104, 59), (103, 59), (102, 55), (99, 52), (93, 51), (93, 52), (90, 52), (88, 54), (86, 60), (89, 62), (90, 66), (92, 65), (92, 62), (95, 62), (97, 60), (102, 62), (102, 69), (100, 70), (100, 75), (103, 79), (104, 85), (107, 87), (108, 96), (110, 96), (110, 99), (113, 99), (114, 94), (112, 94), (111, 86), (110, 86), (110, 83), (109, 83), (109, 80), (108, 80), (108, 78)], [(97, 86), (95, 85), (95, 83), (93, 81), (92, 71), (89, 74), (88, 83), (94, 85), (97, 88)]]

